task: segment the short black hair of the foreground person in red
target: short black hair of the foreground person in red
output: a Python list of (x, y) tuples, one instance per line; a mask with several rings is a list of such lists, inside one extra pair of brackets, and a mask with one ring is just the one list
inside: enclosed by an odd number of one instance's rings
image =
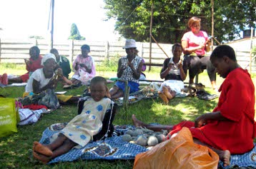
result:
[(220, 45), (212, 51), (210, 58), (223, 58), (223, 56), (229, 57), (232, 61), (237, 61), (235, 57), (235, 51), (228, 45)]

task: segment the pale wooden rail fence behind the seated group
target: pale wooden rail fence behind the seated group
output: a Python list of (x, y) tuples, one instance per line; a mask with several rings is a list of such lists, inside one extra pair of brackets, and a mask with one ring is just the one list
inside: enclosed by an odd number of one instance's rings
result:
[[(96, 63), (101, 63), (106, 59), (111, 59), (114, 56), (125, 56), (125, 50), (122, 48), (124, 42), (120, 41), (61, 41), (54, 42), (54, 48), (59, 51), (61, 56), (66, 56), (69, 61), (74, 61), (74, 58), (81, 53), (80, 47), (87, 43), (91, 47), (90, 55), (93, 56)], [(164, 51), (172, 56), (172, 44), (159, 43)], [(41, 55), (49, 53), (49, 41), (46, 40), (15, 40), (15, 39), (0, 39), (0, 63), (24, 63), (24, 58), (29, 58), (29, 48), (38, 46)], [(149, 63), (149, 43), (137, 42), (139, 56), (144, 58), (145, 63)], [(250, 62), (250, 51), (241, 51), (235, 48), (237, 61), (245, 68)], [(163, 63), (167, 58), (156, 43), (152, 43), (152, 63)], [(256, 72), (255, 62), (252, 62), (252, 71)]]

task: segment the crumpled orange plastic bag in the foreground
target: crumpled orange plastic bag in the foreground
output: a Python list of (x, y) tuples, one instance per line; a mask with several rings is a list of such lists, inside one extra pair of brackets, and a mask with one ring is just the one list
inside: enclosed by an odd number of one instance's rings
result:
[(217, 168), (218, 162), (217, 153), (207, 146), (195, 144), (190, 130), (182, 128), (174, 138), (136, 155), (134, 169), (209, 169)]

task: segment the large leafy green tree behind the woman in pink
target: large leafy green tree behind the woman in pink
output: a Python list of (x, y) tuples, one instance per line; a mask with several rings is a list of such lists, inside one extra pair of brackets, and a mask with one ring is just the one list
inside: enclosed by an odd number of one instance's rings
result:
[[(115, 29), (124, 38), (149, 41), (152, 0), (104, 0), (107, 19), (117, 20)], [(124, 8), (125, 6), (125, 8)], [(255, 28), (255, 0), (215, 0), (215, 38), (232, 41), (246, 26)], [(187, 21), (201, 18), (201, 29), (211, 34), (210, 0), (154, 0), (152, 35), (162, 43), (180, 42), (189, 30)]]

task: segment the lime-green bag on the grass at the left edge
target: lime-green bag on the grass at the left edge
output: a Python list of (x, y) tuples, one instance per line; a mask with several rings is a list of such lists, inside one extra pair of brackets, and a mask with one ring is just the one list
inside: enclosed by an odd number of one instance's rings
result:
[(0, 98), (0, 138), (17, 132), (18, 108), (14, 98)]

